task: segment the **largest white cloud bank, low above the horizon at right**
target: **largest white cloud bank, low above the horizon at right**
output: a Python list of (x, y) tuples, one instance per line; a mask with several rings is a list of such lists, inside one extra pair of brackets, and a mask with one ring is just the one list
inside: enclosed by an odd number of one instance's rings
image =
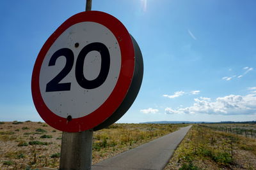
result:
[(253, 115), (256, 113), (256, 94), (248, 94), (246, 96), (229, 95), (218, 97), (214, 101), (207, 97), (199, 97), (194, 99), (193, 106), (187, 108), (179, 108), (172, 110), (166, 108), (166, 114), (173, 113), (189, 113), (198, 114), (206, 113), (209, 115)]

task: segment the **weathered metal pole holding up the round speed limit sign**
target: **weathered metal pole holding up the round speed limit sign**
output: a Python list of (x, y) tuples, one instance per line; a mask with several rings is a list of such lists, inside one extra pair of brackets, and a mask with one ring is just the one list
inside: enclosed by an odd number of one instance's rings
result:
[[(92, 0), (86, 0), (86, 11), (90, 10), (92, 10)], [(63, 132), (60, 170), (92, 169), (92, 141), (93, 129), (83, 132)]]

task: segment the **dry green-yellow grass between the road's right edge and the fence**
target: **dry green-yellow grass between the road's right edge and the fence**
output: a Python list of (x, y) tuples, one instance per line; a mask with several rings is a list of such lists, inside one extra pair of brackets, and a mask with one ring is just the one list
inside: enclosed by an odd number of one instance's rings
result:
[(193, 125), (167, 169), (256, 169), (256, 140)]

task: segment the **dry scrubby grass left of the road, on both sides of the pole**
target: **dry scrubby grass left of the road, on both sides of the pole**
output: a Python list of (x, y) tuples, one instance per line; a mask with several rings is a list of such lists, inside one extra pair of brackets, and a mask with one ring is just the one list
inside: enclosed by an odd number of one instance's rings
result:
[[(114, 124), (93, 133), (93, 164), (185, 125)], [(58, 168), (62, 132), (40, 122), (0, 122), (0, 169)]]

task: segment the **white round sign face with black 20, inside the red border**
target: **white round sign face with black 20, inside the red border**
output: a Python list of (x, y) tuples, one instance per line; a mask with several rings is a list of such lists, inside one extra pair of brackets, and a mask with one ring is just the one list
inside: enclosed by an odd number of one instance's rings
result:
[(80, 22), (65, 30), (46, 53), (40, 93), (59, 117), (84, 117), (108, 99), (120, 69), (120, 46), (114, 34), (96, 22)]

